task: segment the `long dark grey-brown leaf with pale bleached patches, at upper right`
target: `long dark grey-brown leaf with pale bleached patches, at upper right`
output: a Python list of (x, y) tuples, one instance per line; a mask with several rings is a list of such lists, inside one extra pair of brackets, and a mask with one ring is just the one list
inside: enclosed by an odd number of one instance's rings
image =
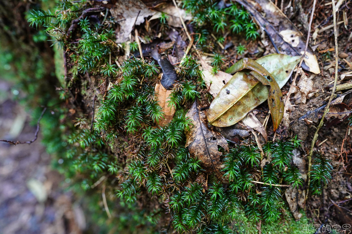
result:
[[(282, 11), (269, 0), (236, 0), (254, 17), (268, 34), (278, 53), (291, 56), (303, 55), (306, 38)], [(261, 9), (265, 17), (257, 9)], [(320, 73), (319, 64), (313, 49), (308, 46), (302, 68), (315, 74)]]

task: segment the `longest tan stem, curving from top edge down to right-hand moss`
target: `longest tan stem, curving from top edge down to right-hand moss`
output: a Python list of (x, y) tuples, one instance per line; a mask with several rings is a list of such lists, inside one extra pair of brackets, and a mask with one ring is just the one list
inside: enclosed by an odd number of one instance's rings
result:
[(312, 167), (312, 155), (313, 155), (313, 148), (315, 145), (315, 142), (318, 140), (318, 133), (320, 128), (323, 126), (325, 115), (329, 112), (329, 107), (330, 103), (334, 97), (335, 91), (336, 91), (336, 85), (337, 85), (337, 75), (338, 75), (338, 44), (337, 44), (337, 28), (336, 28), (336, 10), (335, 10), (335, 0), (332, 0), (332, 11), (333, 11), (333, 16), (334, 16), (334, 36), (335, 36), (335, 80), (334, 80), (334, 87), (331, 92), (331, 96), (329, 98), (328, 103), (326, 104), (325, 110), (323, 115), (321, 116), (320, 123), (318, 127), (316, 128), (316, 131), (313, 136), (312, 140), (312, 145), (310, 146), (309, 154), (308, 154), (308, 172), (307, 172), (307, 178), (308, 178), (308, 186), (307, 186), (307, 193), (306, 193), (306, 199), (308, 198), (308, 192), (309, 192), (309, 185), (310, 185), (310, 169)]

